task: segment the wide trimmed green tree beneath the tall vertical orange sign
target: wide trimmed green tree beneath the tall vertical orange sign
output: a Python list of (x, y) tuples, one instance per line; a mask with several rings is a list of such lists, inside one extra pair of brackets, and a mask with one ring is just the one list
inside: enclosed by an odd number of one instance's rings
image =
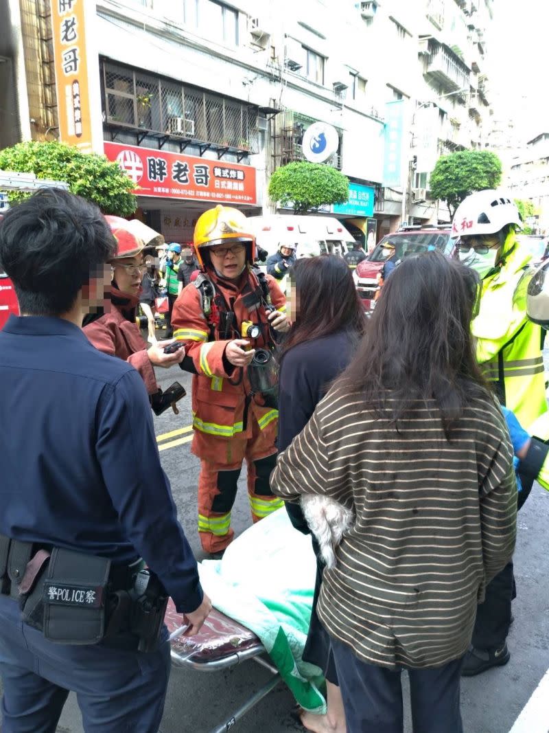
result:
[[(137, 206), (131, 193), (135, 184), (118, 163), (63, 143), (31, 141), (4, 148), (0, 150), (0, 170), (64, 181), (72, 194), (93, 201), (104, 214), (130, 216)], [(26, 196), (30, 194), (12, 191), (9, 199), (16, 202)]]

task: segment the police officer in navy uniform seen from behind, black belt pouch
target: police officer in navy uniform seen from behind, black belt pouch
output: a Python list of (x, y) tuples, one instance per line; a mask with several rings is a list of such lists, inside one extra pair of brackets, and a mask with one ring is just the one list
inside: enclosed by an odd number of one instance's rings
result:
[(86, 733), (156, 732), (167, 594), (187, 636), (211, 608), (143, 380), (81, 331), (115, 251), (100, 211), (66, 191), (39, 191), (0, 224), (23, 314), (0, 331), (4, 733), (53, 732), (69, 690)]

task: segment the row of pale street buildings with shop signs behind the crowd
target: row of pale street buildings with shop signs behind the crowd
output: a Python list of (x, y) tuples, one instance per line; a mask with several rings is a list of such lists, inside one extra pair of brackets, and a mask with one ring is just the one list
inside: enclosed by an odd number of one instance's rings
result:
[[(481, 147), (489, 113), (483, 29), (491, 0), (9, 0), (0, 144), (67, 139), (135, 182), (169, 241), (214, 203), (277, 210), (278, 167), (305, 157), (313, 122), (348, 176), (326, 207), (378, 240), (443, 220), (428, 199), (439, 155)], [(1, 19), (0, 19), (1, 20)], [(0, 23), (0, 28), (2, 27)], [(370, 235), (367, 237), (367, 235)]]

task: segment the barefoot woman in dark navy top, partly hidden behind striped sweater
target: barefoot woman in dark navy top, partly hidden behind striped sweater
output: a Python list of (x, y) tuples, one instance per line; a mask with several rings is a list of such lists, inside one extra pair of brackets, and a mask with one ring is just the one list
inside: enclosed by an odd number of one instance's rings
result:
[[(280, 451), (305, 427), (332, 381), (343, 372), (365, 330), (362, 303), (351, 270), (342, 257), (322, 254), (298, 259), (291, 270), (291, 320), (294, 325), (280, 352)], [(301, 509), (287, 504), (288, 515), (299, 531), (309, 533)], [(317, 573), (310, 630), (303, 658), (321, 667), (326, 676), (326, 715), (302, 712), (303, 725), (316, 732), (344, 733), (345, 714), (337, 674), (329, 653), (329, 637), (318, 621), (316, 602), (324, 563), (317, 556)]]

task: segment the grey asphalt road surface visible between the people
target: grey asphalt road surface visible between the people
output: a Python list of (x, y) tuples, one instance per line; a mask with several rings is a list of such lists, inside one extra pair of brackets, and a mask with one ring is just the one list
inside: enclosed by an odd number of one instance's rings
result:
[[(187, 389), (179, 416), (171, 410), (154, 418), (160, 436), (160, 457), (168, 474), (179, 520), (198, 559), (203, 558), (196, 530), (198, 459), (190, 453), (190, 376), (179, 367), (157, 370), (163, 387), (179, 380)], [(187, 430), (184, 430), (187, 428)], [(175, 432), (175, 434), (173, 434)], [(168, 434), (168, 435), (167, 435)], [(165, 436), (165, 437), (162, 437)], [(241, 490), (233, 512), (236, 534), (250, 525), (242, 471)], [(509, 636), (511, 660), (507, 666), (477, 678), (463, 679), (462, 712), (466, 733), (509, 733), (516, 718), (549, 668), (549, 493), (534, 486), (520, 511), (515, 575), (518, 598), (513, 605), (515, 623)], [(203, 673), (173, 668), (161, 726), (162, 733), (208, 733), (230, 718), (231, 710), (269, 679), (269, 672), (252, 661), (232, 671)], [(403, 680), (405, 693), (406, 679)], [(405, 694), (406, 699), (406, 694)], [(293, 698), (280, 684), (235, 730), (241, 733), (286, 733), (302, 730), (291, 718)], [(406, 709), (407, 709), (406, 705)], [(406, 713), (408, 715), (408, 712)], [(548, 723), (544, 733), (549, 729)], [(539, 728), (539, 731), (542, 729)], [(59, 733), (82, 733), (81, 717), (74, 696), (65, 706)], [(411, 733), (411, 724), (406, 724)], [(416, 732), (422, 733), (422, 732)], [(526, 730), (525, 733), (534, 733)], [(537, 731), (536, 731), (537, 733)]]

